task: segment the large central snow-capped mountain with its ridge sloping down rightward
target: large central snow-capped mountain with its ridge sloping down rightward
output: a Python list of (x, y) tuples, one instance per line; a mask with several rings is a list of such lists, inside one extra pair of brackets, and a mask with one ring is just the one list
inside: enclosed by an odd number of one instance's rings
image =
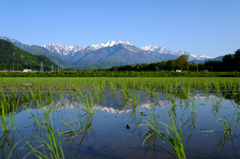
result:
[(86, 47), (68, 60), (76, 66), (104, 65), (106, 68), (118, 65), (151, 63), (162, 60), (173, 60), (181, 55), (188, 55), (191, 60), (213, 59), (203, 55), (194, 55), (185, 51), (172, 52), (161, 46), (136, 47), (129, 42), (108, 41)]

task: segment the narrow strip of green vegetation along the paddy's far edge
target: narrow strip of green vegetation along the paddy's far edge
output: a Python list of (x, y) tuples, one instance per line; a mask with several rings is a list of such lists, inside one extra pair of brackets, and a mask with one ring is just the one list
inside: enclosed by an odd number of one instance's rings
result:
[(239, 72), (0, 72), (0, 77), (240, 77)]

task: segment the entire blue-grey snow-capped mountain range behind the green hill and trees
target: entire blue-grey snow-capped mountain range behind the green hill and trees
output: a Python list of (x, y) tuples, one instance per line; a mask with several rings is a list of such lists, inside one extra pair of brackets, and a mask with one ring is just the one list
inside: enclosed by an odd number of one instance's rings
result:
[(194, 55), (186, 51), (172, 52), (161, 46), (149, 45), (136, 47), (129, 42), (122, 42), (120, 40), (94, 44), (84, 48), (82, 46), (68, 46), (61, 44), (30, 46), (4, 36), (0, 36), (0, 39), (7, 40), (15, 46), (34, 55), (45, 55), (59, 66), (65, 68), (110, 68), (119, 65), (172, 60), (181, 55), (188, 55), (189, 61), (205, 61), (213, 60), (215, 58), (205, 55)]

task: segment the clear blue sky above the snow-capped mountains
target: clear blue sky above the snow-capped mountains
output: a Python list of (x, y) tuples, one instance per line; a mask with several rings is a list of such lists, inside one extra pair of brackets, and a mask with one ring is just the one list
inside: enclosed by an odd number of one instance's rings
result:
[(0, 35), (87, 47), (109, 40), (220, 56), (240, 48), (240, 0), (3, 0)]

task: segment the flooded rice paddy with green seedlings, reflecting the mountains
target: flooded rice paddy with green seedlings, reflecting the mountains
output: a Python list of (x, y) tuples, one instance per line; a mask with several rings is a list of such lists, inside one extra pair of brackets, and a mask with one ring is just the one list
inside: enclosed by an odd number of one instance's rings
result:
[(1, 158), (238, 158), (239, 78), (1, 78)]

